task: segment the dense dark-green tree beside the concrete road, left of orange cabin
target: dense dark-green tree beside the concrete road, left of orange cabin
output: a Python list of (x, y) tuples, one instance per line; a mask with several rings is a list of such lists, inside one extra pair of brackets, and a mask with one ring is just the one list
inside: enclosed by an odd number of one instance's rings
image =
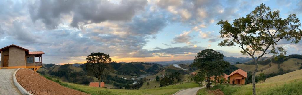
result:
[(207, 88), (210, 87), (211, 76), (220, 76), (229, 68), (230, 63), (223, 61), (223, 56), (213, 49), (204, 49), (195, 56), (193, 65), (207, 76)]

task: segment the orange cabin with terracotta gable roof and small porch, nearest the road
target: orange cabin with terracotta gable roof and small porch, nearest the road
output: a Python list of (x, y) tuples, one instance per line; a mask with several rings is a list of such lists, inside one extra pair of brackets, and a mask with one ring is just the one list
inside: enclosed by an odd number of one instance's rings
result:
[(231, 85), (245, 85), (245, 79), (247, 78), (247, 73), (241, 69), (232, 72), (228, 78), (230, 79)]

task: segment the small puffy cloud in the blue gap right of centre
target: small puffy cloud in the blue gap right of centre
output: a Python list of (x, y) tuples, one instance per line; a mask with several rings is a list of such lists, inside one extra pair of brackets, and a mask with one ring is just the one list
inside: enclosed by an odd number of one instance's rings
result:
[(183, 31), (182, 34), (177, 35), (173, 38), (172, 43), (187, 43), (193, 38), (189, 35), (191, 31)]

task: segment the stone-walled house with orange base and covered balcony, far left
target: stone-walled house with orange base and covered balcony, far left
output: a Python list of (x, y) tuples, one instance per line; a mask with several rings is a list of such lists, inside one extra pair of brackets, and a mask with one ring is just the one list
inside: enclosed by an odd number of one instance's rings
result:
[(0, 69), (28, 68), (35, 72), (42, 67), (42, 55), (44, 52), (29, 52), (14, 44), (0, 49)]

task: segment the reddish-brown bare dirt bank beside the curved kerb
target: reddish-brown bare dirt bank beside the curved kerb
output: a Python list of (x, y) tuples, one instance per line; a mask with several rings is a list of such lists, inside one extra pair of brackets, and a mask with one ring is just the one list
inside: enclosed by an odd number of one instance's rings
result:
[(89, 95), (84, 92), (63, 87), (48, 80), (30, 69), (20, 69), (16, 73), (18, 83), (34, 95)]

